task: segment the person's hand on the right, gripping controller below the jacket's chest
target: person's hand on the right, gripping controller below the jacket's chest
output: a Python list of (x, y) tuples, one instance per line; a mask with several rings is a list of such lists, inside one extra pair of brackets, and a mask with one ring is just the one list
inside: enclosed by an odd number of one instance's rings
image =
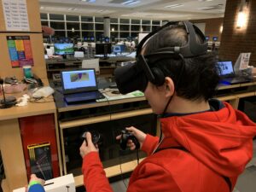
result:
[[(137, 138), (137, 141), (140, 143), (140, 147), (142, 148), (145, 138), (147, 136), (146, 133), (138, 130), (134, 126), (126, 127), (125, 129), (127, 131), (130, 131), (134, 135), (134, 137)], [(117, 140), (121, 139), (121, 135), (117, 136), (116, 139)], [(128, 140), (127, 147), (130, 148), (131, 150), (134, 150), (136, 148), (135, 144), (131, 141), (131, 139)]]

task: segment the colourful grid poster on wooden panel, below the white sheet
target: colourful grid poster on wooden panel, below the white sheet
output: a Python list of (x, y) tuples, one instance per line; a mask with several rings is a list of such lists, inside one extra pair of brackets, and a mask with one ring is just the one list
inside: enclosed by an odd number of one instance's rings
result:
[(12, 67), (33, 66), (29, 36), (7, 36), (6, 38)]

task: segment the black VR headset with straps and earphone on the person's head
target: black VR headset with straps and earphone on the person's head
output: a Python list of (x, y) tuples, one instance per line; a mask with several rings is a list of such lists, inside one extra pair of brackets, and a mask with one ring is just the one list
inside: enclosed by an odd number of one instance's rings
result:
[[(204, 34), (200, 29), (190, 23), (189, 21), (183, 21), (183, 26), (188, 34), (188, 44), (183, 47), (166, 47), (157, 49), (154, 53), (148, 55), (142, 55), (142, 49), (145, 42), (149, 38), (152, 38), (155, 34), (163, 30), (168, 26), (180, 25), (179, 22), (168, 22), (166, 25), (161, 26), (158, 30), (148, 33), (143, 40), (137, 46), (136, 62), (129, 63), (124, 67), (118, 67), (114, 71), (114, 78), (119, 88), (119, 92), (126, 94), (135, 90), (146, 90), (148, 81), (152, 84), (160, 86), (165, 83), (166, 76), (157, 67), (149, 67), (148, 63), (154, 63), (156, 61), (177, 58), (183, 60), (183, 67), (181, 73), (184, 70), (184, 59), (194, 57), (198, 55), (204, 55), (207, 53), (207, 41)], [(196, 42), (196, 33), (204, 40), (203, 44)], [(182, 75), (179, 75), (177, 82)], [(178, 83), (177, 83), (178, 84)]]

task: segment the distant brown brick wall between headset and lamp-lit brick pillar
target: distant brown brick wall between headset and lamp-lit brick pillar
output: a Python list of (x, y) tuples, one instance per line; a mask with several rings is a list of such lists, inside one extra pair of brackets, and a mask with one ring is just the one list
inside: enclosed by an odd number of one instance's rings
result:
[(205, 23), (205, 35), (209, 36), (210, 41), (212, 41), (212, 37), (218, 37), (218, 41), (221, 40), (221, 32), (220, 26), (223, 25), (224, 18), (212, 18), (212, 19), (204, 19), (204, 20), (189, 20), (192, 23)]

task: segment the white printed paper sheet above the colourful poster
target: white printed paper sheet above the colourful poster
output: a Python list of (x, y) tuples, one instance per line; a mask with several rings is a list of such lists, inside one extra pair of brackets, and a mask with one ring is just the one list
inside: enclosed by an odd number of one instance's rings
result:
[(6, 31), (29, 31), (26, 0), (2, 0)]

